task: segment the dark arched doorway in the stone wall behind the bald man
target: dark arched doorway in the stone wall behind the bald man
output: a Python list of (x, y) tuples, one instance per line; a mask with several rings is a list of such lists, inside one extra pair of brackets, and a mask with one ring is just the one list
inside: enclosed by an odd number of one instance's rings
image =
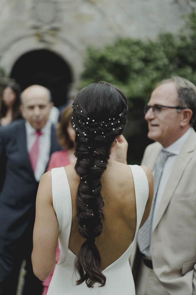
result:
[(72, 82), (71, 70), (66, 62), (48, 50), (34, 50), (22, 55), (10, 77), (20, 84), (22, 90), (32, 84), (47, 87), (56, 106), (65, 104)]

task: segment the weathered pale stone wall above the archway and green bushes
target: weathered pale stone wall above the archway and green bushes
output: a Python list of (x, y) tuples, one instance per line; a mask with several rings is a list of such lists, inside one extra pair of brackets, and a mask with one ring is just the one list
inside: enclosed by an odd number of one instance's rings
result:
[(67, 63), (77, 86), (88, 45), (175, 33), (194, 7), (195, 0), (0, 0), (0, 67), (10, 75), (22, 55), (47, 49)]

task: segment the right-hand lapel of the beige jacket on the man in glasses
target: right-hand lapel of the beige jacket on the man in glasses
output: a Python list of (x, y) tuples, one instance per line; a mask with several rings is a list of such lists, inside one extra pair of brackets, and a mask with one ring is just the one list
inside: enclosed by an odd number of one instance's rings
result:
[(195, 131), (192, 129), (189, 137), (187, 138), (185, 144), (182, 146), (182, 149), (175, 160), (169, 180), (167, 181), (167, 184), (165, 186), (165, 190), (163, 192), (163, 196), (160, 201), (160, 206), (155, 218), (153, 231), (157, 227), (165, 210), (167, 209), (167, 206), (178, 186), (178, 183), (180, 182), (182, 174), (192, 158), (192, 152), (195, 150), (195, 146), (196, 134)]

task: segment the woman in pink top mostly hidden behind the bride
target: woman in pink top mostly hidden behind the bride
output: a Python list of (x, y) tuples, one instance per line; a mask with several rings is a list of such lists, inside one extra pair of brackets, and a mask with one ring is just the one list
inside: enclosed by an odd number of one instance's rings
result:
[[(74, 137), (75, 133), (71, 126), (70, 116), (72, 112), (72, 107), (68, 106), (64, 109), (61, 114), (60, 122), (57, 125), (57, 137), (58, 142), (62, 146), (63, 150), (55, 152), (51, 155), (47, 171), (50, 171), (52, 168), (65, 167), (74, 163), (76, 157), (74, 156)], [(56, 263), (59, 259), (59, 248), (57, 245), (56, 248)], [(54, 268), (48, 278), (42, 282), (43, 292), (42, 295), (46, 295), (48, 292), (48, 286), (50, 284)]]

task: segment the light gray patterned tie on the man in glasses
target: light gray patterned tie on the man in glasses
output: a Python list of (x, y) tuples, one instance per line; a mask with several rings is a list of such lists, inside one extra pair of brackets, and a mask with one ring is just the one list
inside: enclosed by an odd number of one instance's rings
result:
[(148, 246), (150, 246), (153, 212), (155, 207), (157, 191), (158, 191), (158, 187), (160, 183), (160, 178), (163, 173), (163, 167), (165, 165), (167, 158), (173, 155), (174, 154), (166, 152), (165, 150), (161, 150), (155, 163), (154, 195), (153, 195), (152, 206), (150, 209), (150, 215), (148, 219), (146, 220), (145, 224), (143, 224), (143, 226), (138, 230), (138, 246), (141, 253), (143, 253), (143, 251)]

